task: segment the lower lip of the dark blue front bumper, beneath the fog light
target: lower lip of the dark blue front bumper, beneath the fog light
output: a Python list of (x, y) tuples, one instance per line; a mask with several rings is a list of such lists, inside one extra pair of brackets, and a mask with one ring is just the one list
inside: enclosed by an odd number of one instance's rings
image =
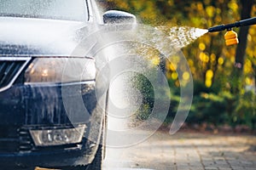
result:
[(67, 167), (86, 165), (93, 160), (96, 144), (77, 144), (76, 147), (59, 150), (1, 153), (1, 169), (14, 167)]

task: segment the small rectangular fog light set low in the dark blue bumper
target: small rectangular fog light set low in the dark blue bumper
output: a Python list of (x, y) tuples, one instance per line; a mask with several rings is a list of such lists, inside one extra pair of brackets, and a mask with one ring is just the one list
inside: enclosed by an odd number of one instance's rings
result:
[(36, 146), (55, 146), (61, 144), (78, 144), (82, 141), (85, 125), (65, 129), (30, 130)]

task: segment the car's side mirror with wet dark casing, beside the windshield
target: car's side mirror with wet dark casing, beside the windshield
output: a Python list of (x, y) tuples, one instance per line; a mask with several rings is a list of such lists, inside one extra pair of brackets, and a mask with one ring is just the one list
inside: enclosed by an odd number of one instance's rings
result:
[(135, 24), (136, 16), (118, 10), (109, 10), (103, 14), (104, 24)]

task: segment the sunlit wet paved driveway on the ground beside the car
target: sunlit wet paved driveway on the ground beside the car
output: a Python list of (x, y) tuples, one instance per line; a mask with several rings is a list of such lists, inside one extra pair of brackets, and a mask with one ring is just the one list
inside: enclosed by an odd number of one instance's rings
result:
[(256, 137), (181, 132), (171, 136), (157, 132), (132, 147), (108, 148), (103, 167), (105, 170), (256, 170)]

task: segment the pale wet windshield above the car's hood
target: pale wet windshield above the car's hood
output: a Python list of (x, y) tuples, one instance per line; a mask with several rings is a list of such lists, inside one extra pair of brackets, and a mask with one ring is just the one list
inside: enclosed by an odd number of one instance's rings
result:
[(0, 16), (84, 21), (88, 11), (85, 0), (0, 0)]

